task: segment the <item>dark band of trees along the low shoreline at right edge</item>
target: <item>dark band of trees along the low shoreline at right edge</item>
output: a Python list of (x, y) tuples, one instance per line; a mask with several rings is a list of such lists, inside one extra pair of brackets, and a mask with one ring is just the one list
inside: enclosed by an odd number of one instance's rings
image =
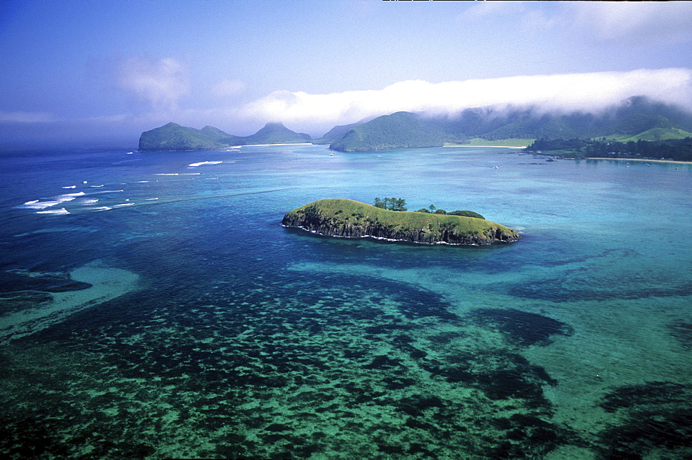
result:
[(527, 147), (528, 151), (568, 151), (574, 156), (602, 158), (672, 158), (692, 161), (692, 138), (666, 140), (630, 140), (617, 142), (600, 138), (538, 139)]

